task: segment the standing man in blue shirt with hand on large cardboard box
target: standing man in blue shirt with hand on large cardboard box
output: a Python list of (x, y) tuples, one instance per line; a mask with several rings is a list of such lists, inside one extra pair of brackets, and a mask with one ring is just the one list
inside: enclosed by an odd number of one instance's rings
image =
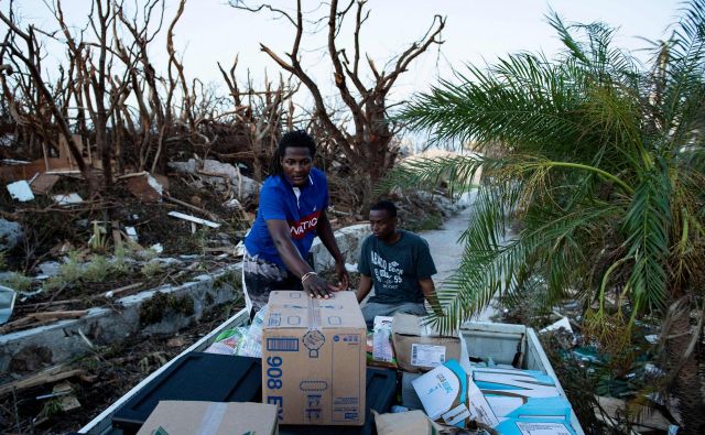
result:
[[(326, 176), (313, 167), (315, 153), (311, 135), (291, 131), (282, 137), (272, 157), (257, 218), (245, 239), (242, 282), (251, 314), (267, 304), (272, 290), (300, 289), (312, 297), (328, 297), (330, 291), (348, 287), (345, 259), (326, 215)], [(304, 260), (316, 236), (335, 260), (337, 286), (319, 278)]]

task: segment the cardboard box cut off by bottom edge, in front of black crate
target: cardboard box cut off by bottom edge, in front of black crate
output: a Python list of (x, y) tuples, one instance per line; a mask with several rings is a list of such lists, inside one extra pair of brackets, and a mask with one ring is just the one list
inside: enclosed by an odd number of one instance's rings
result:
[(262, 403), (160, 401), (138, 435), (155, 433), (276, 435), (276, 406)]

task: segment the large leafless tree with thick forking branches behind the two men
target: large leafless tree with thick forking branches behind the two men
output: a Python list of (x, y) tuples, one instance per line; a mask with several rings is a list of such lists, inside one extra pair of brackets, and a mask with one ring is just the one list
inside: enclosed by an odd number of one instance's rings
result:
[[(398, 127), (392, 126), (389, 121), (387, 96), (399, 76), (408, 69), (414, 58), (424, 53), (431, 44), (442, 43), (441, 31), (445, 26), (444, 18), (434, 17), (427, 32), (391, 62), (392, 69), (390, 72), (383, 69), (380, 72), (370, 57), (366, 56), (373, 79), (372, 83), (365, 84), (364, 74), (360, 70), (362, 56), (360, 31), (369, 17), (366, 3), (367, 0), (350, 0), (345, 8), (339, 10), (338, 1), (332, 0), (327, 14), (327, 57), (334, 67), (333, 80), (338, 96), (350, 113), (354, 129), (348, 131), (340, 128), (332, 118), (332, 110), (326, 106), (318, 84), (304, 70), (301, 64), (301, 43), (304, 34), (304, 12), (301, 0), (296, 2), (295, 17), (270, 4), (249, 7), (241, 0), (230, 0), (230, 4), (237, 9), (250, 12), (269, 10), (285, 18), (295, 26), (296, 34), (292, 48), (285, 54), (285, 57), (278, 55), (263, 43), (260, 44), (260, 48), (280, 67), (296, 76), (311, 91), (315, 101), (316, 118), (325, 131), (335, 139), (350, 164), (356, 165), (358, 172), (362, 174), (361, 178), (366, 187), (364, 202), (370, 199), (373, 185), (394, 164), (399, 151), (392, 146), (392, 137), (398, 132)], [(350, 61), (346, 50), (339, 47), (338, 35), (344, 20), (352, 11), (355, 12), (355, 26), (352, 59)]]

